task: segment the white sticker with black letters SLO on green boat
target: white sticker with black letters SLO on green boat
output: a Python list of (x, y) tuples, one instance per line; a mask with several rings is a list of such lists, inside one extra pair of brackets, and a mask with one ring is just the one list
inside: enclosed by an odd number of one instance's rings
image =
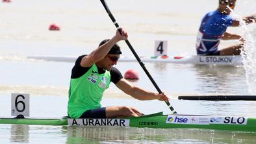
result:
[(247, 125), (246, 117), (211, 117), (211, 124)]

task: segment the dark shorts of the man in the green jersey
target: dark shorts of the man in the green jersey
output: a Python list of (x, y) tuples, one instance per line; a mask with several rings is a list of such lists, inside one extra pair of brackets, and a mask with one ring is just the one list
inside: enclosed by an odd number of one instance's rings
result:
[(106, 119), (106, 108), (87, 110), (80, 118)]

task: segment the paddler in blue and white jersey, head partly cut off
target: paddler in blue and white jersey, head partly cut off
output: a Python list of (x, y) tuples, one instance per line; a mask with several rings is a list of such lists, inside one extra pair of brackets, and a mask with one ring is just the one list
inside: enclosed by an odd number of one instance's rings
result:
[[(232, 18), (237, 0), (219, 0), (217, 10), (207, 13), (202, 21), (196, 41), (197, 53), (200, 55), (239, 55), (244, 47), (244, 38), (239, 34), (226, 32), (227, 27), (238, 27), (242, 23), (255, 23), (256, 14), (242, 18)], [(241, 43), (218, 50), (221, 40), (240, 40)]]

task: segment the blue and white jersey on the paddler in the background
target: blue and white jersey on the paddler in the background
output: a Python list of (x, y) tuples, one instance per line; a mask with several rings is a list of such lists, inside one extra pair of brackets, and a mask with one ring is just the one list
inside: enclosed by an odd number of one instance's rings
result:
[(198, 54), (209, 54), (218, 51), (220, 38), (232, 26), (233, 18), (218, 10), (207, 13), (202, 21), (196, 40)]

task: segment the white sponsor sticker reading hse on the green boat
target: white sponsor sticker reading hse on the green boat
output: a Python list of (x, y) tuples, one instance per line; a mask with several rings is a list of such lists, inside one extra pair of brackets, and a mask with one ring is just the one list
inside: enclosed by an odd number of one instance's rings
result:
[(168, 115), (166, 123), (190, 124), (190, 125), (209, 125), (210, 118), (207, 116)]

